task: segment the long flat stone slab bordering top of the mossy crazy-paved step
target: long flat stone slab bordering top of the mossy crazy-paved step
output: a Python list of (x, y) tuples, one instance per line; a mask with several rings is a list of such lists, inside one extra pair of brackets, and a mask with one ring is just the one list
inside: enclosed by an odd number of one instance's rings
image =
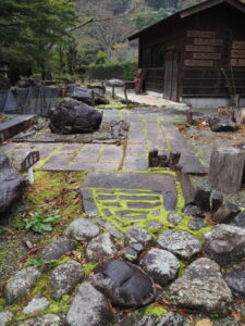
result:
[(89, 173), (83, 184), (83, 187), (175, 192), (173, 177), (159, 174)]

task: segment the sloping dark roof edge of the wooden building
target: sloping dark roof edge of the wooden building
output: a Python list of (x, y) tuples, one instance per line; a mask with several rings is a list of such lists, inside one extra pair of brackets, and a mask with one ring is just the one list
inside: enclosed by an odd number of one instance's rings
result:
[(204, 10), (207, 10), (207, 9), (210, 9), (210, 8), (213, 8), (213, 7), (217, 7), (217, 5), (220, 5), (220, 4), (228, 4), (236, 10), (238, 10), (240, 12), (244, 13), (245, 14), (245, 4), (242, 3), (240, 0), (207, 0), (207, 1), (204, 1), (204, 2), (200, 2), (198, 4), (195, 4), (193, 7), (189, 7), (189, 8), (186, 8), (184, 10), (181, 10), (181, 11), (177, 11), (176, 13), (155, 23), (154, 25), (150, 25), (133, 35), (131, 35), (128, 37), (128, 40), (133, 40), (135, 38), (138, 38), (142, 34), (144, 34), (145, 32), (162, 24), (162, 23), (167, 23), (173, 18), (180, 18), (180, 20), (183, 20), (183, 18), (186, 18), (191, 15), (194, 15), (194, 14), (197, 14)]

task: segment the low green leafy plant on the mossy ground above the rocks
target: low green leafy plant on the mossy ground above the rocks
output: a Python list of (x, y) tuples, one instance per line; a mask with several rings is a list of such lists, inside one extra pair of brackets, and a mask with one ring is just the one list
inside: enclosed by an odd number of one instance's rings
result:
[(32, 214), (32, 217), (24, 218), (23, 222), (15, 223), (13, 226), (26, 230), (34, 230), (38, 234), (46, 234), (52, 230), (52, 223), (60, 218), (60, 215), (48, 214), (44, 216), (42, 211)]

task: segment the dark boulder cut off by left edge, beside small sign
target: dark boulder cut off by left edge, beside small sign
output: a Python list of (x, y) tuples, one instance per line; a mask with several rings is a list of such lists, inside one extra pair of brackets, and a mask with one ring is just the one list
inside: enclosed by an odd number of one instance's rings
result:
[(25, 180), (0, 151), (0, 214), (9, 210), (23, 192)]

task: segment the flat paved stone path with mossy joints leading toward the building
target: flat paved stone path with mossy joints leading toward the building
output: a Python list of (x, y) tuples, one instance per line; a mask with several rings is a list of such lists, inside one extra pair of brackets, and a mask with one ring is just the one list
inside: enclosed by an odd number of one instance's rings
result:
[(39, 150), (44, 171), (109, 171), (147, 172), (148, 152), (155, 148), (162, 152), (182, 151), (183, 172), (205, 174), (207, 171), (195, 158), (186, 140), (173, 123), (184, 121), (183, 116), (164, 112), (105, 111), (103, 121), (124, 120), (131, 124), (124, 146), (103, 143), (42, 143), (14, 142), (4, 146), (3, 151), (16, 166), (29, 150)]

